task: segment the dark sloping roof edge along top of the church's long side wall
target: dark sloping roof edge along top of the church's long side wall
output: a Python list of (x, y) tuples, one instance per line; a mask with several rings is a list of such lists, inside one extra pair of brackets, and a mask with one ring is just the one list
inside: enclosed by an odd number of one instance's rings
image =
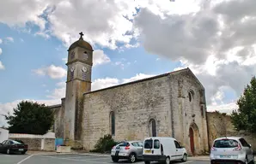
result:
[[(131, 85), (131, 84), (147, 81), (147, 80), (150, 80), (150, 79), (162, 78), (162, 77), (168, 76), (169, 74), (180, 73), (180, 72), (184, 72), (184, 71), (187, 71), (187, 70), (190, 70), (190, 68), (186, 67), (186, 68), (179, 69), (179, 70), (176, 70), (176, 71), (172, 71), (172, 72), (168, 72), (168, 73), (162, 73), (162, 74), (158, 74), (158, 75), (155, 75), (155, 76), (151, 76), (149, 78), (137, 79), (135, 81), (131, 81), (131, 82), (128, 82), (128, 83), (123, 83), (123, 84), (119, 84), (119, 85), (113, 85), (113, 86), (109, 86), (109, 87), (102, 88), (102, 89), (95, 90), (95, 91), (88, 91), (88, 92), (83, 93), (83, 95), (86, 95), (86, 94), (89, 94), (89, 93), (94, 93), (94, 92), (97, 92), (97, 91), (104, 91), (104, 90), (113, 89), (113, 88), (117, 88), (119, 86)], [(192, 72), (192, 71), (190, 71), (190, 72)]]

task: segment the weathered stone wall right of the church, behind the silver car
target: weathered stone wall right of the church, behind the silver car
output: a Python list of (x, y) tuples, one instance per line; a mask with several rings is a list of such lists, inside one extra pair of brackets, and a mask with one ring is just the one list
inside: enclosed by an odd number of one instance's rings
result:
[(256, 135), (248, 132), (237, 132), (231, 122), (229, 115), (216, 112), (207, 113), (209, 146), (212, 146), (214, 139), (222, 137), (242, 137), (252, 144), (253, 150), (256, 151)]

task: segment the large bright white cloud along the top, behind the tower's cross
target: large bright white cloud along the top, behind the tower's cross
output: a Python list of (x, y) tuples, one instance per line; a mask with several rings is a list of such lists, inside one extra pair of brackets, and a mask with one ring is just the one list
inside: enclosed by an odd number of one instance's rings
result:
[[(130, 44), (131, 38), (137, 36), (131, 21), (137, 13), (136, 8), (147, 8), (157, 15), (162, 15), (163, 11), (186, 14), (199, 9), (198, 3), (186, 0), (175, 3), (151, 0), (9, 0), (0, 3), (0, 21), (18, 27), (33, 23), (40, 26), (37, 34), (47, 38), (50, 35), (57, 36), (66, 45), (74, 42), (82, 30), (84, 38), (91, 44), (115, 49), (117, 44), (122, 43), (131, 48), (138, 45)], [(41, 15), (47, 15), (49, 29), (46, 29), (47, 21)], [(30, 29), (26, 31), (30, 32)]]

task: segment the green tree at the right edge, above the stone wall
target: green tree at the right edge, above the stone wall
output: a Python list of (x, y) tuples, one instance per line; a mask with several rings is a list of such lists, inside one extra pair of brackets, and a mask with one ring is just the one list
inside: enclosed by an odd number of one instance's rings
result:
[(231, 120), (237, 131), (256, 133), (256, 78), (253, 77), (237, 101), (238, 110), (233, 111)]

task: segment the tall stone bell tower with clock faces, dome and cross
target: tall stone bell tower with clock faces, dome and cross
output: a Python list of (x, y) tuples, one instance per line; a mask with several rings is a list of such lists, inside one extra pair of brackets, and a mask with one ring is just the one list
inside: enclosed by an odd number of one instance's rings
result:
[(80, 38), (70, 45), (65, 96), (64, 140), (82, 139), (83, 93), (91, 91), (93, 48)]

